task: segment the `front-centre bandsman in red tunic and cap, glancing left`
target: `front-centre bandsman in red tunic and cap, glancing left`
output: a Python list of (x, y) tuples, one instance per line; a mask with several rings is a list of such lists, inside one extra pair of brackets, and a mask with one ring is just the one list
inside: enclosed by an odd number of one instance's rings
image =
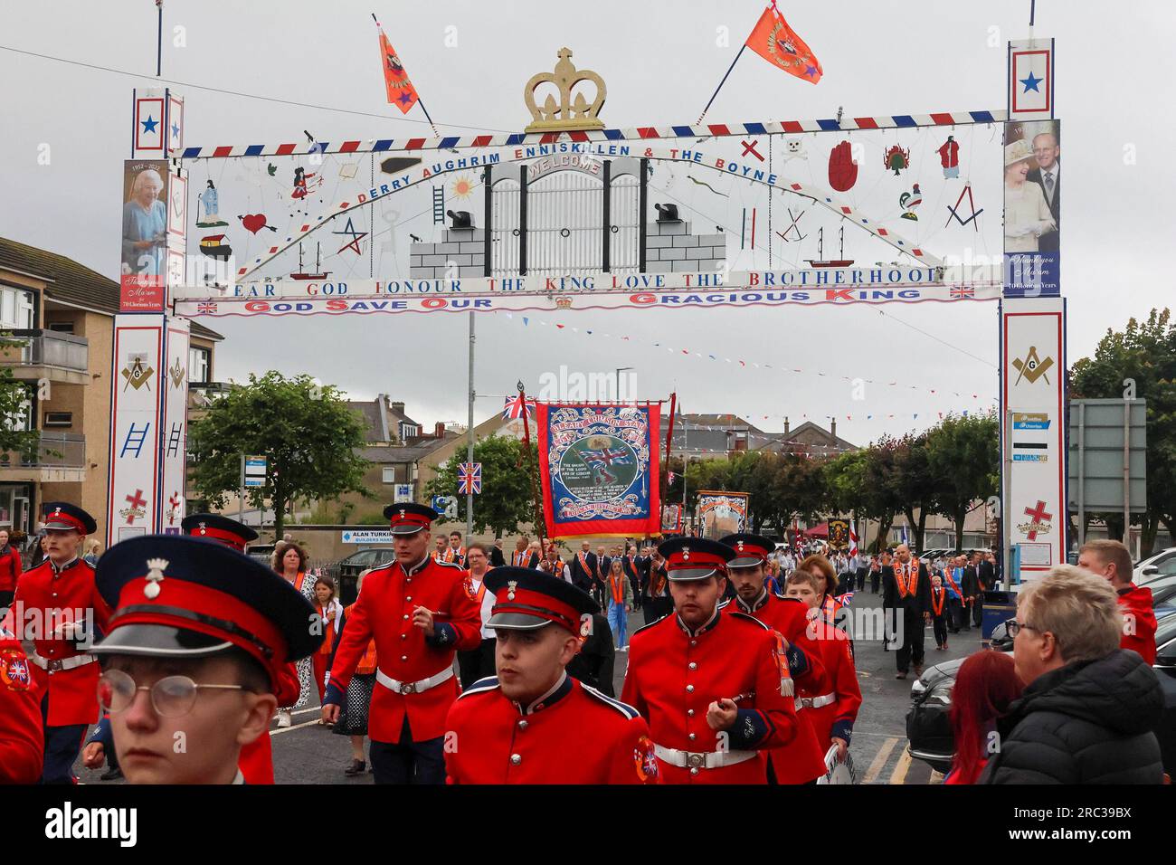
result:
[(649, 727), (632, 706), (564, 667), (600, 612), (586, 592), (540, 571), (486, 574), (495, 604), (496, 677), (449, 708), (450, 784), (655, 784)]

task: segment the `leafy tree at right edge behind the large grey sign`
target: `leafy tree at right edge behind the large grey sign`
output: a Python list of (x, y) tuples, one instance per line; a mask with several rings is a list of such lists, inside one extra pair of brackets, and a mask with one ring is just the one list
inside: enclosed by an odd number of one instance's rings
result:
[[(1152, 310), (1147, 321), (1134, 318), (1122, 332), (1110, 328), (1093, 358), (1070, 367), (1074, 399), (1137, 398), (1148, 401), (1148, 508), (1140, 514), (1141, 546), (1155, 546), (1163, 523), (1176, 538), (1176, 325), (1169, 310)], [(1104, 514), (1108, 530), (1120, 530), (1121, 514)], [(1112, 535), (1114, 537), (1114, 535)]]

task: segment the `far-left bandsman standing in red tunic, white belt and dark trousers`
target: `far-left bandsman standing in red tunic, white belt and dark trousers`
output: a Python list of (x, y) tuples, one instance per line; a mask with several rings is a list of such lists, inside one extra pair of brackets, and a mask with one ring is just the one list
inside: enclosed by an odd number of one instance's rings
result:
[[(94, 588), (94, 568), (78, 552), (98, 525), (75, 505), (45, 510), (46, 558), (21, 574), (13, 599), (13, 632), (32, 640), (28, 657), (41, 697), (45, 784), (72, 784), (86, 727), (98, 720), (98, 659), (89, 652), (106, 631), (109, 607)], [(98, 632), (98, 633), (96, 633)]]

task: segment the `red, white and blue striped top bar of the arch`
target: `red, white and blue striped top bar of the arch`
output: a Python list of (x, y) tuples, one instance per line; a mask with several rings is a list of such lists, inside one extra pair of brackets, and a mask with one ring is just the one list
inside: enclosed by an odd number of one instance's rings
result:
[(400, 151), (437, 151), (477, 147), (514, 147), (515, 145), (556, 144), (559, 141), (642, 141), (675, 138), (726, 138), (734, 135), (794, 135), (804, 132), (853, 132), (855, 129), (914, 129), (926, 126), (967, 126), (1000, 124), (1008, 111), (953, 111), (934, 114), (888, 114), (871, 118), (836, 118), (824, 120), (779, 120), (742, 124), (689, 124), (674, 126), (633, 126), (623, 129), (583, 132), (512, 132), (496, 135), (445, 135), (441, 138), (383, 138), (350, 141), (305, 141), (274, 145), (220, 145), (185, 147), (181, 159), (229, 159), (233, 157), (308, 157), (326, 153), (388, 153)]

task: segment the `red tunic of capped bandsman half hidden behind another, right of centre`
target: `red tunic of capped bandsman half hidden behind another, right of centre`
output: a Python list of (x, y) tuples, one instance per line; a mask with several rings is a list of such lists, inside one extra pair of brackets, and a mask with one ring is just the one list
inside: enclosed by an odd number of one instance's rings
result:
[[(737, 594), (734, 600), (723, 605), (727, 613), (746, 613), (753, 616), (773, 631), (788, 640), (788, 668), (793, 676), (796, 693), (808, 688), (821, 692), (826, 685), (824, 663), (821, 647), (813, 639), (808, 627), (808, 607), (796, 598), (784, 598), (767, 588), (753, 604), (744, 604)], [(797, 712), (800, 724), (796, 726), (796, 738), (783, 747), (767, 751), (771, 768), (780, 784), (807, 784), (826, 773), (824, 752), (820, 736), (809, 718), (809, 710)]]

